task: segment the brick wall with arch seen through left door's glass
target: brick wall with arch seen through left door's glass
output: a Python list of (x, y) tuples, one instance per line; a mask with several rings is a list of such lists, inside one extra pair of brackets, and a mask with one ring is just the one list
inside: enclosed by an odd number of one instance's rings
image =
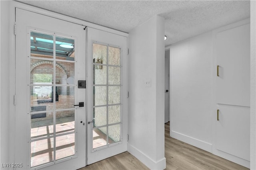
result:
[[(43, 61), (37, 59), (31, 59), (30, 64), (30, 83), (34, 84), (34, 74), (52, 74), (53, 75), (53, 62)], [(56, 109), (74, 108), (74, 86), (58, 86), (58, 84), (67, 84), (68, 77), (74, 77), (74, 63), (56, 62), (56, 92), (58, 93), (58, 102), (56, 102)], [(52, 77), (53, 80), (53, 77)], [(37, 88), (45, 88), (39, 87)], [(52, 87), (48, 86), (48, 92), (50, 94), (44, 94), (41, 96), (35, 95), (34, 88), (31, 87), (30, 93), (30, 106), (46, 106), (46, 110), (53, 110), (54, 106), (51, 101)], [(56, 93), (56, 94), (57, 94)], [(48, 103), (40, 103), (38, 100), (43, 100)], [(58, 111), (56, 112), (56, 118), (74, 116), (74, 110), (72, 111)], [(31, 121), (42, 121), (53, 119), (53, 113), (46, 113), (46, 117), (32, 119)]]

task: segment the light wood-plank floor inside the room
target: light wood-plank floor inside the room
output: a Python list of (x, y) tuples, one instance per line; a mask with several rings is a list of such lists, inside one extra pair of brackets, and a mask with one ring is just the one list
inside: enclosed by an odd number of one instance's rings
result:
[[(166, 170), (249, 170), (170, 137), (169, 126), (169, 123), (165, 124)], [(148, 168), (132, 154), (124, 152), (80, 170), (148, 170)]]

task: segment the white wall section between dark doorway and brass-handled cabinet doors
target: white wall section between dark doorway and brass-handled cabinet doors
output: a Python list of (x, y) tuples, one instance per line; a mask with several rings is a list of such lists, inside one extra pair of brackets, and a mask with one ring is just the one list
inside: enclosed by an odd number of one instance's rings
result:
[(211, 152), (212, 33), (171, 46), (171, 136)]

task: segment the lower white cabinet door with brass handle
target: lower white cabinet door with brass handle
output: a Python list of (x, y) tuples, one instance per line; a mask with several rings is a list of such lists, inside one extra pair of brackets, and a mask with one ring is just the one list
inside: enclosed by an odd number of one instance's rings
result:
[(216, 149), (250, 161), (250, 107), (219, 104), (218, 109)]

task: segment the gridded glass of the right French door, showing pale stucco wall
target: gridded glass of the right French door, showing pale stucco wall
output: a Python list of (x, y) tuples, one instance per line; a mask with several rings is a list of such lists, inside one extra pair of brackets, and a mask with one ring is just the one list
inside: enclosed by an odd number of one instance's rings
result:
[[(106, 64), (97, 63), (96, 54), (106, 54)], [(110, 54), (111, 53), (111, 54)], [(118, 53), (118, 56), (113, 54)], [(112, 56), (111, 56), (112, 55)], [(121, 66), (120, 48), (93, 43), (92, 149), (98, 150), (121, 141)], [(109, 59), (111, 58), (111, 61)], [(115, 61), (117, 58), (118, 61)], [(104, 58), (105, 59), (105, 58)], [(101, 61), (101, 60), (100, 60)], [(103, 62), (103, 61), (102, 61)], [(111, 65), (110, 65), (111, 64)]]

